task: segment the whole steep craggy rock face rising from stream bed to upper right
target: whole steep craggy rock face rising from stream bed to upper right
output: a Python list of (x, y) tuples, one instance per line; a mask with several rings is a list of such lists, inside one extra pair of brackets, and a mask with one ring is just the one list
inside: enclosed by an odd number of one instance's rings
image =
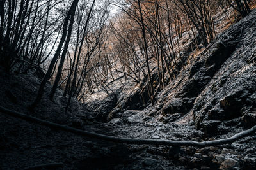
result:
[[(207, 134), (228, 132), (229, 126), (255, 125), (256, 13), (220, 34), (157, 96), (150, 115), (193, 113), (195, 125)], [(175, 115), (175, 117), (178, 117)]]

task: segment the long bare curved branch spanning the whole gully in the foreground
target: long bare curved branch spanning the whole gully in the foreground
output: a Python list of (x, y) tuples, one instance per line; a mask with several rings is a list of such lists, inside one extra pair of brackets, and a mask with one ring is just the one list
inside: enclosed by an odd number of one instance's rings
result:
[(203, 142), (197, 142), (197, 141), (170, 141), (166, 139), (132, 139), (132, 138), (119, 138), (115, 136), (107, 136), (104, 134), (97, 134), (94, 132), (88, 132), (83, 131), (80, 129), (76, 129), (73, 127), (68, 127), (67, 125), (60, 125), (55, 124), (52, 122), (48, 122), (45, 120), (42, 120), (40, 118), (31, 117), (29, 115), (24, 115), (22, 113), (18, 113), (17, 111), (8, 110), (6, 108), (3, 108), (0, 106), (0, 111), (6, 115), (10, 115), (12, 117), (21, 118), (23, 120), (33, 122), (35, 124), (44, 125), (47, 127), (52, 127), (55, 129), (60, 129), (61, 131), (66, 132), (72, 132), (74, 134), (79, 134), (81, 136), (87, 136), (90, 138), (97, 138), (102, 139), (106, 141), (113, 141), (116, 143), (129, 143), (129, 144), (137, 144), (137, 145), (168, 145), (168, 146), (197, 146), (199, 148), (205, 147), (205, 146), (214, 146), (214, 145), (223, 145), (227, 143), (232, 143), (234, 141), (237, 141), (238, 139), (244, 138), (246, 136), (250, 136), (254, 132), (256, 132), (256, 125), (253, 126), (251, 129), (248, 129), (246, 131), (239, 132), (238, 134), (235, 134), (234, 136), (226, 139), (218, 139), (215, 141), (203, 141)]

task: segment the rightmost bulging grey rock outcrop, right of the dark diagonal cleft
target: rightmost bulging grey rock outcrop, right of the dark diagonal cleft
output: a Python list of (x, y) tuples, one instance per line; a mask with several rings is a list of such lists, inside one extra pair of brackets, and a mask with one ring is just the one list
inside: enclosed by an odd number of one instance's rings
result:
[[(256, 64), (247, 61), (256, 50), (254, 38), (256, 34), (252, 31), (255, 29), (255, 22), (255, 13), (251, 13), (248, 18), (241, 20), (216, 40), (217, 44), (218, 41), (226, 41), (227, 44), (230, 42), (229, 44), (232, 45), (230, 48), (234, 52), (230, 51), (228, 58), (227, 55), (222, 55), (227, 58), (227, 61), (221, 67), (219, 66), (220, 69), (196, 98), (193, 108), (196, 127), (205, 127), (209, 120), (226, 121), (241, 117), (247, 111), (255, 109), (253, 99), (249, 99), (251, 103), (246, 102), (256, 89)], [(243, 35), (242, 32), (246, 34)], [(222, 40), (228, 35), (232, 35), (231, 38)], [(236, 43), (236, 48), (233, 47), (232, 42), (239, 42)], [(209, 57), (206, 61), (205, 63), (209, 63)]]

